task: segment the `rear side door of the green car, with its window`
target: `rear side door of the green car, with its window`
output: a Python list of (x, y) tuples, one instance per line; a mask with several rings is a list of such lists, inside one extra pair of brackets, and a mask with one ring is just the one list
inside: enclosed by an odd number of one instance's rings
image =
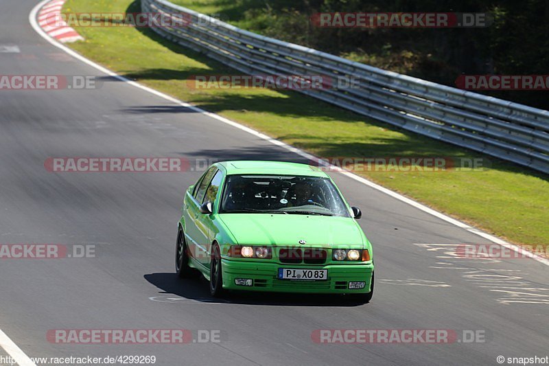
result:
[(198, 219), (200, 217), (200, 205), (206, 194), (206, 190), (211, 183), (211, 179), (218, 168), (215, 166), (209, 168), (205, 174), (202, 175), (196, 183), (192, 192), (187, 192), (185, 196), (185, 207), (183, 207), (183, 216), (185, 218), (185, 238), (187, 240), (187, 247), (189, 248), (189, 255), (196, 261), (202, 263), (200, 256), (207, 255), (207, 250), (200, 247), (200, 231), (198, 231)]

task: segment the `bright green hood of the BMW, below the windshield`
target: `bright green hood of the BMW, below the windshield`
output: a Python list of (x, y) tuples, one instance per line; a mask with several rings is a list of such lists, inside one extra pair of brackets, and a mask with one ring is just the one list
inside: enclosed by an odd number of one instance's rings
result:
[[(220, 214), (237, 244), (362, 248), (362, 229), (352, 218), (283, 214)], [(306, 244), (299, 244), (305, 240)]]

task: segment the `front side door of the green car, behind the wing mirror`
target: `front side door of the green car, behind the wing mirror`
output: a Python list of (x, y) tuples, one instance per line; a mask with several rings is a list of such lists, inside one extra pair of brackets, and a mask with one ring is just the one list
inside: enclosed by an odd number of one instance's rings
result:
[[(202, 205), (209, 202), (211, 203), (211, 207), (215, 207), (215, 201), (220, 195), (223, 176), (224, 174), (221, 170), (215, 172), (204, 198), (202, 198)], [(199, 214), (196, 222), (198, 248), (205, 250), (205, 253), (203, 253), (204, 255), (200, 255), (200, 263), (207, 267), (209, 267), (211, 260), (211, 242), (217, 233), (217, 228), (213, 223), (213, 219), (214, 216), (212, 214)]]

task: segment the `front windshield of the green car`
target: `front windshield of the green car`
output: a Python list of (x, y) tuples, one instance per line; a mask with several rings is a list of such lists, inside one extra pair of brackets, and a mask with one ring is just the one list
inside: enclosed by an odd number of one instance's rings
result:
[(230, 175), (220, 213), (295, 214), (349, 217), (347, 206), (327, 178)]

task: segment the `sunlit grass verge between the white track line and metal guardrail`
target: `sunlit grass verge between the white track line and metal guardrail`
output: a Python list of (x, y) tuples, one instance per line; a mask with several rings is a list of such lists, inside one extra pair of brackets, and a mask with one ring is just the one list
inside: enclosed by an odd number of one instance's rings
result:
[[(69, 0), (64, 11), (137, 12), (139, 5), (131, 0)], [(191, 76), (237, 72), (174, 45), (151, 30), (77, 30), (86, 41), (71, 47), (87, 58), (320, 157), (491, 161), (491, 168), (483, 171), (358, 174), (511, 242), (534, 246), (549, 243), (549, 180), (545, 174), (399, 130), (292, 91), (190, 89), (187, 80)]]

